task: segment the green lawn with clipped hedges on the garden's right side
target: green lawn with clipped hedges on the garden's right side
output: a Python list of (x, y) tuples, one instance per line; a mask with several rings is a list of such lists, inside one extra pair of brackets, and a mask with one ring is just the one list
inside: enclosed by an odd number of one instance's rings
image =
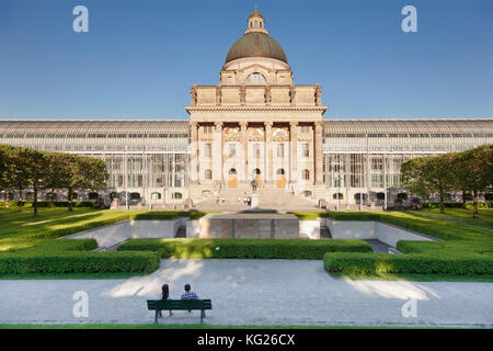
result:
[[(298, 217), (313, 216), (300, 213)], [(399, 241), (403, 256), (328, 253), (325, 269), (334, 276), (358, 279), (493, 281), (493, 210), (447, 208), (412, 212), (320, 213), (335, 220), (380, 220), (445, 241)]]

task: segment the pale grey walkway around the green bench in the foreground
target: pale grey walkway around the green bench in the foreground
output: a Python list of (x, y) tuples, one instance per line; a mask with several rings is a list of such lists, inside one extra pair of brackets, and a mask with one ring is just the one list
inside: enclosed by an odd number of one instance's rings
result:
[[(146, 299), (164, 282), (173, 298), (185, 283), (211, 298), (214, 325), (493, 326), (493, 283), (343, 281), (305, 260), (163, 260), (153, 274), (126, 280), (0, 281), (0, 324), (152, 322)], [(77, 291), (89, 294), (88, 318), (72, 315)], [(416, 317), (402, 315), (409, 298)], [(163, 315), (199, 320), (198, 312)]]

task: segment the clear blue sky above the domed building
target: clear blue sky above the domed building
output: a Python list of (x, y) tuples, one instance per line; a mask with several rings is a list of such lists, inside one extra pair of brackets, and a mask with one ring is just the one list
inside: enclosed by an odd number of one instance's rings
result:
[[(187, 117), (255, 3), (328, 118), (493, 116), (489, 0), (0, 0), (0, 116)], [(78, 4), (89, 33), (72, 31)]]

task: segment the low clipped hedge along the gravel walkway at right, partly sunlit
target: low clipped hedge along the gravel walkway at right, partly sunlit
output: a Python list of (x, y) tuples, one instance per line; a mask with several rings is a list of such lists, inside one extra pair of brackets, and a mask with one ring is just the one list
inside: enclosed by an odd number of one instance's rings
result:
[(329, 273), (493, 274), (493, 260), (481, 254), (425, 256), (333, 252), (323, 257)]

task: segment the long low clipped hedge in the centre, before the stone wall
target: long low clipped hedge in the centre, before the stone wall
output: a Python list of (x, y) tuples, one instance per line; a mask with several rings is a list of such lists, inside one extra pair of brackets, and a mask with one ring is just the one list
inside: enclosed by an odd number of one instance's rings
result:
[(371, 252), (371, 247), (349, 239), (134, 239), (118, 247), (125, 250), (158, 251), (161, 258), (321, 260), (325, 252)]

